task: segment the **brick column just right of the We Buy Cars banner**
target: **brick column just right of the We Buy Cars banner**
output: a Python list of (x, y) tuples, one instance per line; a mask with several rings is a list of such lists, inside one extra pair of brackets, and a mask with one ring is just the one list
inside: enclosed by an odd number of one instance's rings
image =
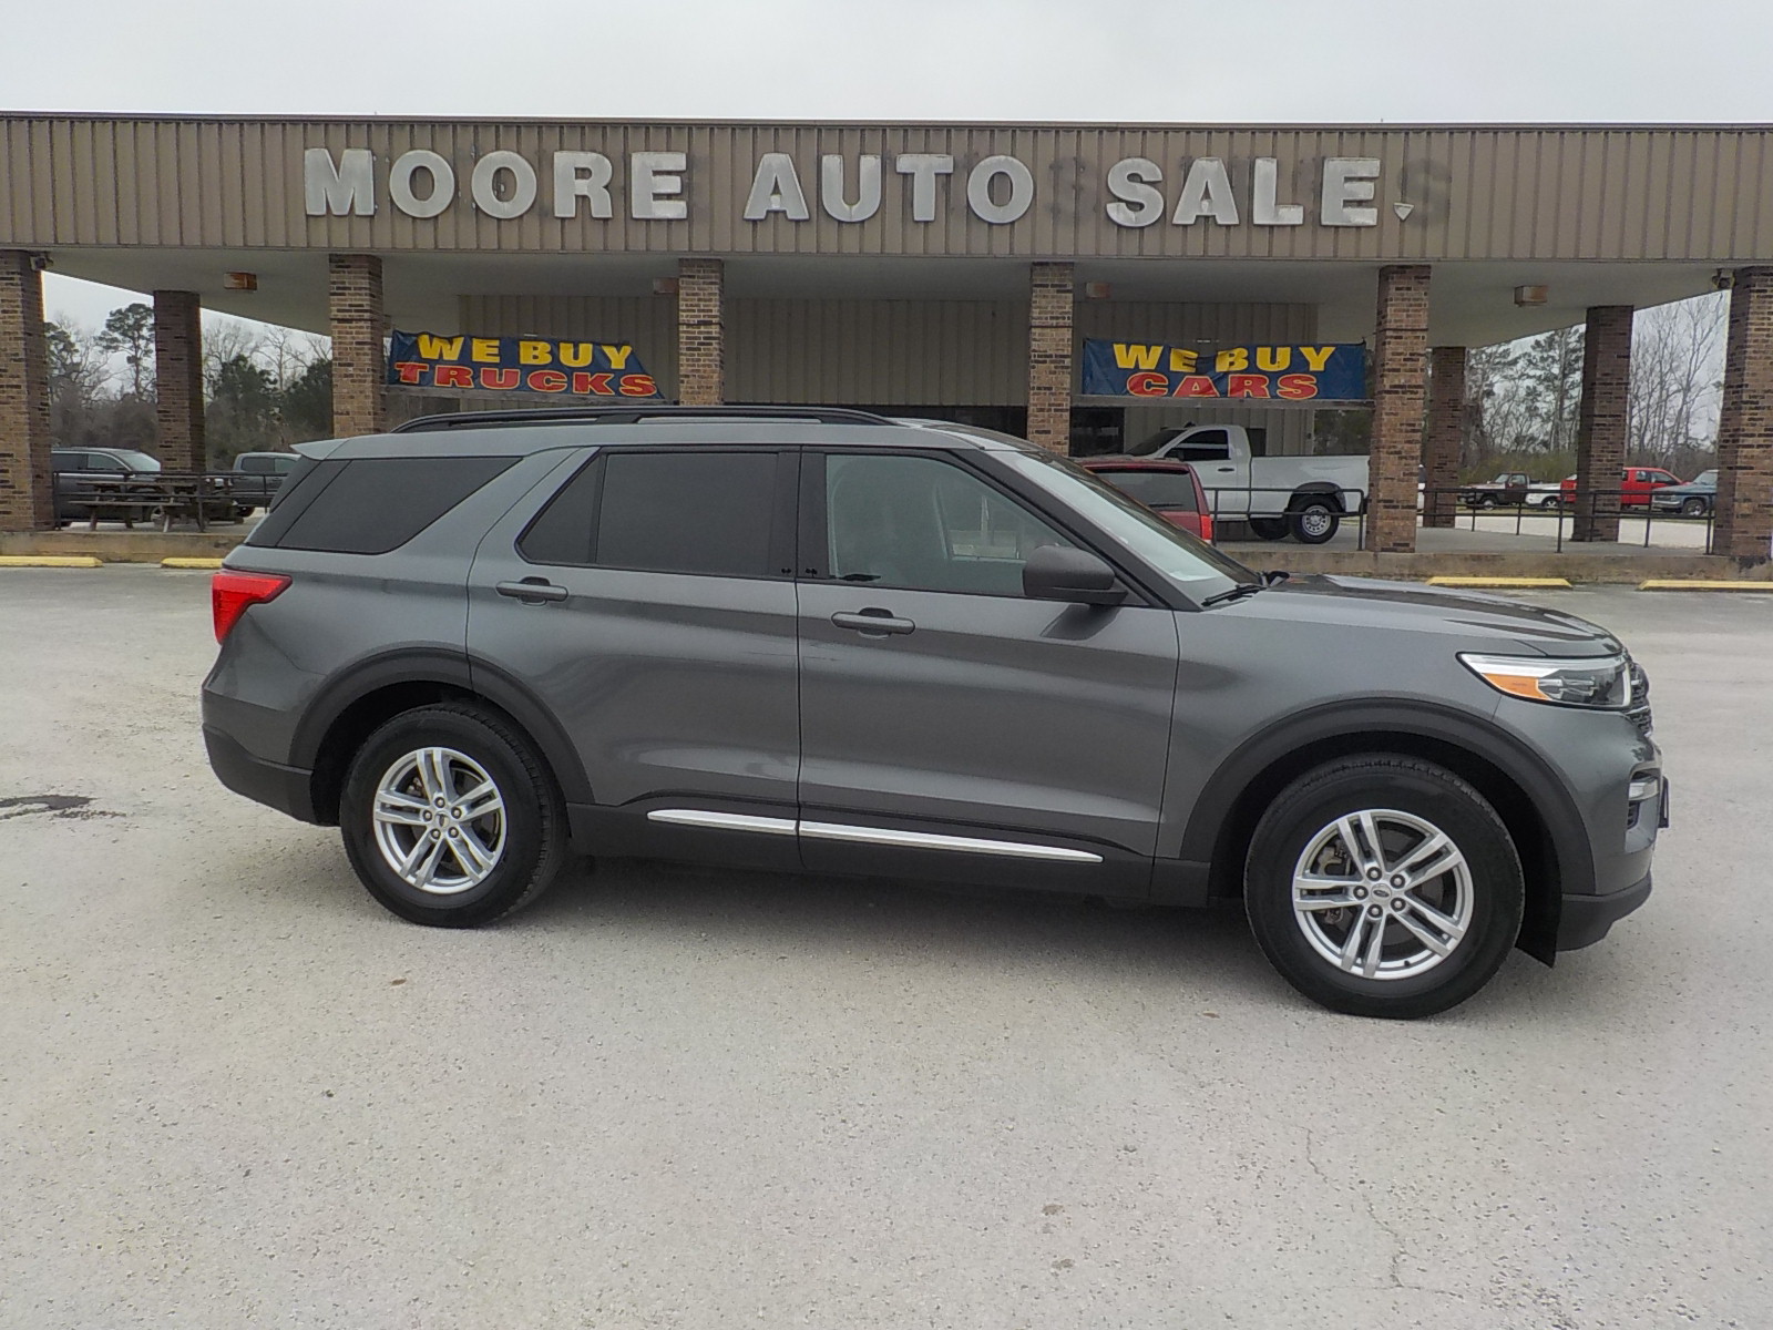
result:
[(1367, 548), (1379, 553), (1413, 553), (1417, 466), (1422, 465), (1422, 415), (1427, 401), (1427, 264), (1388, 264), (1379, 270), (1379, 307), (1372, 342)]

